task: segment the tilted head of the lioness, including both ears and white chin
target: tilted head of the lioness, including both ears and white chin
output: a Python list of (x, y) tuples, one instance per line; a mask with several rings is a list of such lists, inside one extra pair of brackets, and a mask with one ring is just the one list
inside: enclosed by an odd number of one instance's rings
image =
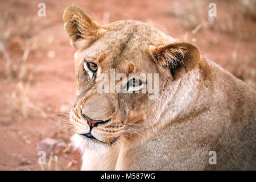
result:
[[(166, 88), (200, 61), (195, 45), (176, 42), (137, 20), (102, 26), (76, 5), (67, 7), (63, 18), (76, 49), (77, 98), (70, 121), (81, 149), (112, 147), (119, 139), (132, 138), (138, 128), (154, 127), (150, 121), (162, 109), (159, 100)], [(102, 82), (106, 77), (114, 81)], [(156, 97), (150, 99), (152, 95)]]

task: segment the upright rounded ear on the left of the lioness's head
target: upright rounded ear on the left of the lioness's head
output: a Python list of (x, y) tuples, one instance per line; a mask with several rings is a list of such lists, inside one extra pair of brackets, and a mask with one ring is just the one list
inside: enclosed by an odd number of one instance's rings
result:
[(64, 27), (71, 44), (76, 49), (87, 47), (102, 34), (100, 24), (94, 22), (89, 15), (77, 5), (70, 5), (63, 14)]

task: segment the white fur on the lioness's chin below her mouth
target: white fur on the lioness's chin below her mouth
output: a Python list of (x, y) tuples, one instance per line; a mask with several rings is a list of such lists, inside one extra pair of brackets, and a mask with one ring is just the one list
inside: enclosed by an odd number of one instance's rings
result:
[(83, 137), (79, 134), (73, 135), (71, 140), (75, 149), (80, 150), (81, 153), (83, 153), (85, 150), (103, 153), (110, 147), (108, 144), (102, 143), (95, 139)]

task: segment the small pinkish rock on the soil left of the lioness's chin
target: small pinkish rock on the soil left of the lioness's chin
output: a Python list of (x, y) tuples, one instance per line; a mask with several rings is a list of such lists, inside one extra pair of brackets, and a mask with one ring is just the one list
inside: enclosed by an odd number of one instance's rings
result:
[(65, 144), (63, 141), (46, 138), (38, 143), (36, 151), (44, 151), (46, 152), (46, 155), (50, 155), (51, 153), (59, 154), (60, 151), (64, 150), (64, 148), (67, 148), (67, 144)]

